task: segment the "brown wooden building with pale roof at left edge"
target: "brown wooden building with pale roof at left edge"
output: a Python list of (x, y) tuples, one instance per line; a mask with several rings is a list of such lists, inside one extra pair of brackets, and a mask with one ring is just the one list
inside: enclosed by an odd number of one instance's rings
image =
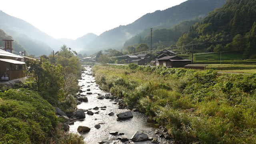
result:
[(5, 50), (0, 50), (1, 80), (14, 80), (17, 78), (25, 77), (25, 74), (23, 72), (25, 70), (24, 61), (25, 60), (22, 56), (6, 52)]

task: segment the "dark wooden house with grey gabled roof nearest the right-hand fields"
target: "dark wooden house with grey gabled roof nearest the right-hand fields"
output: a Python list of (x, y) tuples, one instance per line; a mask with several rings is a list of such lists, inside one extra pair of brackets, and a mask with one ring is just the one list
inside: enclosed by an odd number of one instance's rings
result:
[(192, 60), (187, 60), (179, 56), (164, 56), (156, 61), (156, 66), (167, 66), (168, 68), (182, 68), (191, 64)]

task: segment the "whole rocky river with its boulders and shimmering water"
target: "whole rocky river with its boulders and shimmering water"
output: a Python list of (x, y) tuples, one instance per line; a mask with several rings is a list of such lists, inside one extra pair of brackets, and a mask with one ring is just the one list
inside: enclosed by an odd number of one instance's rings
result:
[(100, 90), (91, 68), (85, 68), (79, 80), (78, 110), (65, 117), (70, 132), (82, 135), (86, 144), (173, 144), (165, 130), (147, 122), (147, 116), (128, 110), (122, 100)]

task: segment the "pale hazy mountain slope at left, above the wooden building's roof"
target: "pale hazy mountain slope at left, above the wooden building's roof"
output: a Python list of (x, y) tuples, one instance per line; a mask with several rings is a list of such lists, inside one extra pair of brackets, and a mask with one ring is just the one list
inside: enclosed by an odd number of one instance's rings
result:
[(26, 48), (29, 54), (49, 54), (58, 50), (63, 43), (40, 31), (28, 22), (10, 16), (0, 10), (0, 29)]

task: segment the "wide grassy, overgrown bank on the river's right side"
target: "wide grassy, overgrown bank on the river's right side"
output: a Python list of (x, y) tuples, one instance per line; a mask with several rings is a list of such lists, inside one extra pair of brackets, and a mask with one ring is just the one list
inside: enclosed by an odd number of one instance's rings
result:
[(176, 143), (256, 143), (256, 74), (183, 68), (92, 68), (102, 90), (164, 126)]

